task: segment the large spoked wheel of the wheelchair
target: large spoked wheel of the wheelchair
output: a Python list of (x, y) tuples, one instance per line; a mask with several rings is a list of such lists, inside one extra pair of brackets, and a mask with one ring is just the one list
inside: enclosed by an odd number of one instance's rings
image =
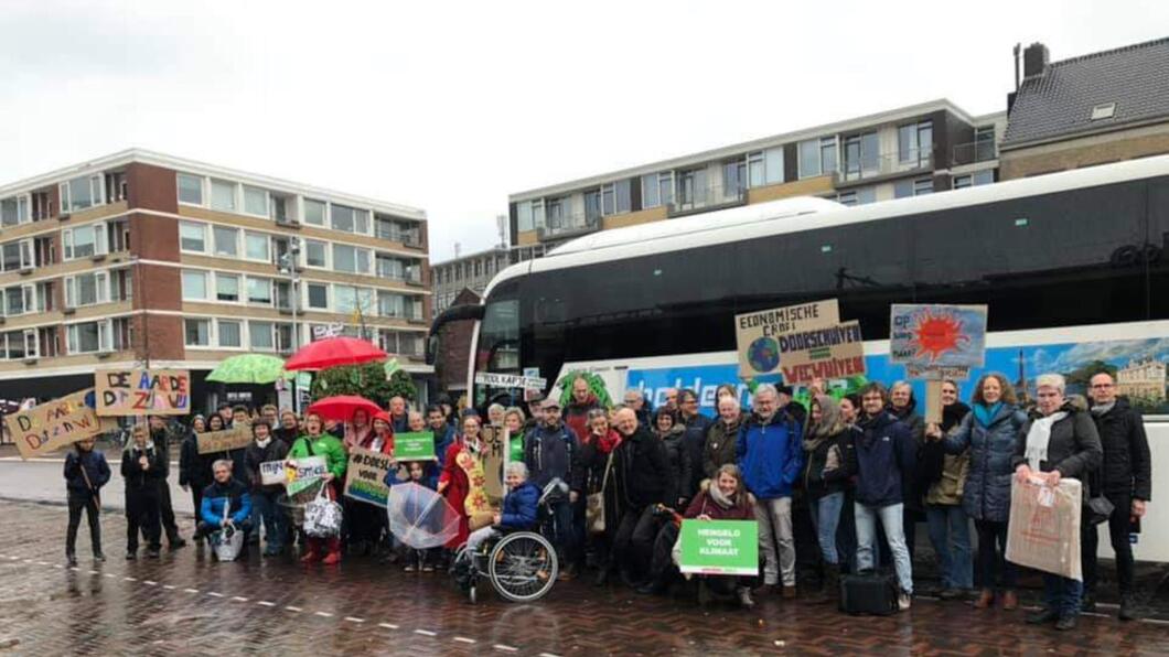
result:
[(532, 602), (552, 590), (560, 563), (548, 539), (532, 532), (518, 532), (500, 539), (491, 551), (487, 574), (491, 586), (505, 600)]

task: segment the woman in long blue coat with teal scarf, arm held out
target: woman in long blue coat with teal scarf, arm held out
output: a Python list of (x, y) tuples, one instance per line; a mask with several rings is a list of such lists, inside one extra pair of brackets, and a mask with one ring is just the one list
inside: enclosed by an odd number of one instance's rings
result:
[(978, 532), (978, 579), (982, 593), (977, 609), (995, 602), (995, 579), (1002, 587), (1003, 609), (1018, 607), (1015, 595), (1016, 570), (1003, 559), (1007, 552), (1007, 521), (1011, 517), (1011, 475), (1015, 445), (1026, 423), (1019, 410), (1015, 389), (1007, 376), (990, 373), (978, 379), (974, 388), (971, 410), (953, 434), (943, 436), (936, 424), (926, 431), (932, 441), (942, 441), (949, 454), (970, 450), (970, 469), (962, 492), (962, 507), (974, 518)]

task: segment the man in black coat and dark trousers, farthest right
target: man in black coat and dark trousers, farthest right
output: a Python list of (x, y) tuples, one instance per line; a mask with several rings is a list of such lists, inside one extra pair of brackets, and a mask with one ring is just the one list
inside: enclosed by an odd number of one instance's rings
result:
[[(1104, 447), (1104, 465), (1092, 483), (1092, 495), (1104, 493), (1113, 504), (1108, 518), (1108, 535), (1116, 553), (1116, 581), (1120, 585), (1120, 618), (1132, 621), (1139, 616), (1133, 600), (1133, 547), (1128, 542), (1134, 519), (1144, 516), (1144, 504), (1153, 492), (1153, 465), (1149, 441), (1144, 435), (1141, 414), (1128, 400), (1116, 396), (1116, 381), (1101, 372), (1090, 381), (1092, 420), (1095, 421)], [(1097, 546), (1100, 533), (1086, 527), (1080, 552), (1084, 568), (1084, 603), (1086, 611), (1095, 608)]]

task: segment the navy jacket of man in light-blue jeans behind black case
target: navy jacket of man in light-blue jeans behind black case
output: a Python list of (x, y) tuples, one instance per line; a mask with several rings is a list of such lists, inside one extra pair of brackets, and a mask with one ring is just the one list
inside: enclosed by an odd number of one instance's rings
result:
[(866, 506), (905, 502), (905, 472), (916, 465), (916, 445), (909, 430), (891, 413), (864, 417), (853, 435), (849, 472), (856, 476), (856, 500)]

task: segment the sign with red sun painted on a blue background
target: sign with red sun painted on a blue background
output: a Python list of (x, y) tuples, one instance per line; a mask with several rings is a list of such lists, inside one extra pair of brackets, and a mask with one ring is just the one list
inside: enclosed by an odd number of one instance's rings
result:
[(915, 367), (982, 367), (987, 306), (893, 304), (888, 359)]

